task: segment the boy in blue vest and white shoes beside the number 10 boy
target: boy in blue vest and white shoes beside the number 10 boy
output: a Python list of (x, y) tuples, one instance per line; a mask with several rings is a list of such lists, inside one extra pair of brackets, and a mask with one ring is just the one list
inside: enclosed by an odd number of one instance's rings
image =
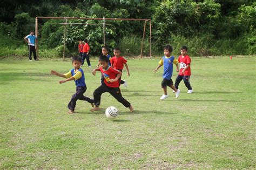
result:
[(161, 100), (166, 99), (167, 97), (169, 97), (169, 95), (167, 94), (167, 89), (166, 87), (169, 86), (171, 87), (172, 90), (174, 90), (174, 92), (176, 93), (176, 98), (179, 97), (180, 94), (180, 90), (177, 90), (174, 86), (173, 86), (173, 81), (172, 81), (172, 70), (173, 70), (173, 64), (176, 64), (176, 71), (179, 72), (179, 66), (178, 66), (178, 60), (174, 57), (171, 56), (172, 54), (172, 46), (171, 45), (166, 45), (164, 47), (164, 57), (161, 58), (161, 60), (159, 61), (159, 65), (157, 66), (157, 68), (154, 70), (154, 72), (157, 72), (157, 70), (164, 65), (164, 73), (163, 73), (163, 81), (161, 83), (162, 88), (164, 89), (164, 94), (163, 96), (160, 97)]

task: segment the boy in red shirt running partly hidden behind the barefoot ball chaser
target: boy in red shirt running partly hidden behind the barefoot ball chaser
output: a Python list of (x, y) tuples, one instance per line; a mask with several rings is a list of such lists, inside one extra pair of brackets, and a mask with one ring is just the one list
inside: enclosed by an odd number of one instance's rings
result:
[[(124, 57), (121, 57), (120, 54), (121, 54), (121, 50), (119, 49), (119, 47), (115, 47), (114, 48), (114, 57), (112, 57), (111, 61), (110, 61), (111, 67), (113, 67), (113, 69), (116, 69), (116, 70), (119, 70), (120, 72), (122, 72), (124, 69), (124, 65), (125, 65), (128, 76), (130, 76), (129, 68), (128, 68), (128, 65), (126, 64), (127, 60), (124, 59)], [(121, 80), (121, 77), (120, 77), (119, 83), (123, 84), (125, 87), (127, 87), (127, 82), (125, 80)]]

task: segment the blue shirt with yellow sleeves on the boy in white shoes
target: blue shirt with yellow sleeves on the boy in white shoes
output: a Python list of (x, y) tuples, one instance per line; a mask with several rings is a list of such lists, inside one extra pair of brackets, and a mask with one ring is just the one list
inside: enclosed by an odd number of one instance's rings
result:
[(159, 65), (164, 65), (163, 78), (170, 80), (172, 77), (173, 64), (178, 64), (178, 60), (174, 57), (162, 57), (159, 61)]

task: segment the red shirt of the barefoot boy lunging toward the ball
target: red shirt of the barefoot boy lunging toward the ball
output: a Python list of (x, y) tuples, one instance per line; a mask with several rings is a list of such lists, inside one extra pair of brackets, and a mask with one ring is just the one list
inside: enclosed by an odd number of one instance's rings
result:
[(106, 86), (119, 87), (119, 81), (114, 81), (113, 83), (110, 83), (110, 79), (115, 79), (117, 77), (117, 74), (119, 73), (118, 70), (113, 69), (112, 67), (109, 67), (109, 69), (107, 70), (103, 70), (102, 67), (100, 67), (99, 69), (104, 76), (104, 83)]

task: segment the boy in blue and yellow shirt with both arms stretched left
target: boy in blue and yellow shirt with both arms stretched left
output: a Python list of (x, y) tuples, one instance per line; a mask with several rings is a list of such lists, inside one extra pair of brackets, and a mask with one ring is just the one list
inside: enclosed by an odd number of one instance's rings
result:
[(80, 66), (82, 65), (82, 58), (81, 57), (73, 57), (72, 65), (74, 66), (74, 69), (70, 70), (66, 74), (60, 74), (54, 70), (51, 71), (51, 73), (55, 74), (56, 76), (66, 78), (64, 80), (60, 80), (59, 81), (60, 84), (65, 83), (66, 81), (75, 80), (75, 83), (77, 86), (76, 87), (77, 92), (75, 94), (73, 94), (73, 96), (69, 102), (69, 105), (68, 105), (69, 112), (68, 113), (75, 113), (75, 107), (76, 107), (77, 100), (88, 101), (88, 103), (90, 103), (92, 105), (92, 107), (94, 107), (94, 105), (93, 105), (94, 100), (84, 96), (84, 93), (85, 93), (87, 87), (85, 84), (84, 71), (83, 71), (83, 69), (80, 68)]

